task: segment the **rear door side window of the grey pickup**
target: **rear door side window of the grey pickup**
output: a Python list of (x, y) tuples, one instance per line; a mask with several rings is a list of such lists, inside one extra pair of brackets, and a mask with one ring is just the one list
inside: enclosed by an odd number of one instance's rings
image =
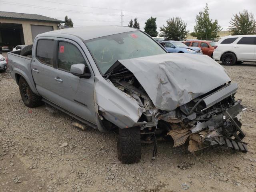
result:
[(54, 40), (38, 40), (36, 58), (43, 64), (52, 66), (54, 54)]

